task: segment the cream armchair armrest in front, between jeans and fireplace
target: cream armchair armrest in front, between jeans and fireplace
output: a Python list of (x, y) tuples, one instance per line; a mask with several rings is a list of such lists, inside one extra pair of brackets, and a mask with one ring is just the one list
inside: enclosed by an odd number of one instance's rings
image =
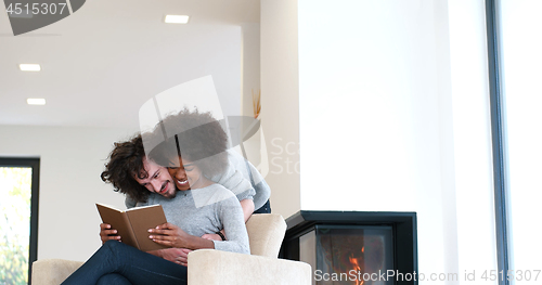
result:
[(300, 261), (215, 249), (189, 254), (189, 284), (310, 285), (311, 268)]

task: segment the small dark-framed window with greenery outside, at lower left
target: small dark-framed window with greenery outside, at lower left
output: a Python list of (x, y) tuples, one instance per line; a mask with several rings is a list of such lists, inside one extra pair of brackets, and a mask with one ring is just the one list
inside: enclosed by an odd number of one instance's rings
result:
[(0, 284), (29, 284), (37, 258), (39, 158), (0, 158)]

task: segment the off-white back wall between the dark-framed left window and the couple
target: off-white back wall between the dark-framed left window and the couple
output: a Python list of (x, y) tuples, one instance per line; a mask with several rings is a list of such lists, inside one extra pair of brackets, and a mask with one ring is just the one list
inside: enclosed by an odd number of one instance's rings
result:
[(100, 179), (113, 142), (136, 130), (0, 126), (0, 156), (40, 158), (38, 259), (87, 260), (101, 245), (94, 203), (125, 208)]

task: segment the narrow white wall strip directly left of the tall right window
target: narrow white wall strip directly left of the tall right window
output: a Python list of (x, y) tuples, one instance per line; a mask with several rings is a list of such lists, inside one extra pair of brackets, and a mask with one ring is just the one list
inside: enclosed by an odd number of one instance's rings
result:
[(459, 270), (481, 274), (496, 270), (485, 3), (448, 7)]

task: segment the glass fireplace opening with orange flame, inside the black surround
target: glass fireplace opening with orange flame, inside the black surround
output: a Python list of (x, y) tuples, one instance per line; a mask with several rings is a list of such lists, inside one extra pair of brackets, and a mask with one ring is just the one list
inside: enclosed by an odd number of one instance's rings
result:
[(386, 225), (317, 225), (299, 237), (299, 260), (319, 270), (318, 285), (393, 284), (370, 277), (393, 270), (392, 233)]

